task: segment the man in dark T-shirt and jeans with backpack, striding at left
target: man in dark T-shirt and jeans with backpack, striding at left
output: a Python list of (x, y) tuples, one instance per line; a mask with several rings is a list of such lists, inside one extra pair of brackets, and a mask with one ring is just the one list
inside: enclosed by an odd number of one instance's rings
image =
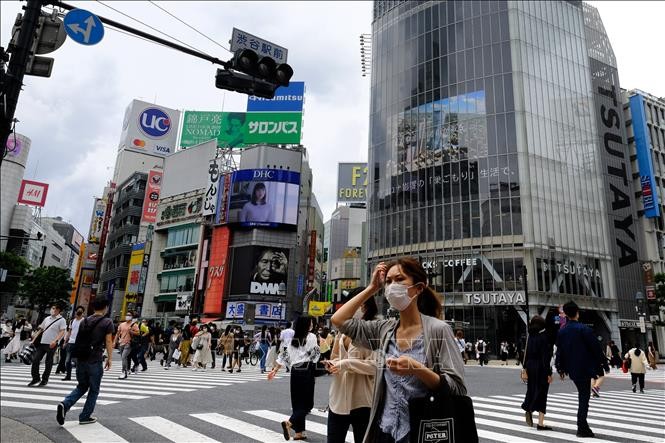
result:
[(113, 322), (105, 317), (109, 302), (105, 297), (98, 297), (92, 303), (94, 314), (87, 317), (79, 327), (74, 356), (77, 357), (76, 381), (74, 390), (57, 406), (56, 421), (65, 424), (65, 415), (81, 397), (87, 394), (83, 409), (79, 414), (79, 424), (91, 424), (97, 421), (92, 413), (95, 410), (99, 387), (104, 370), (111, 369), (113, 359), (107, 358), (103, 365), (103, 353), (106, 348), (110, 356), (113, 352)]

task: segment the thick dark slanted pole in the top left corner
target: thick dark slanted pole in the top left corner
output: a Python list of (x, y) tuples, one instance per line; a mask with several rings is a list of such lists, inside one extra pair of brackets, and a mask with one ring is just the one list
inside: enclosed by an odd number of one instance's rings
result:
[(12, 132), (14, 113), (18, 104), (18, 96), (23, 87), (23, 77), (30, 57), (30, 48), (36, 38), (42, 4), (42, 0), (28, 0), (26, 6), (23, 7), (25, 13), (21, 22), (21, 30), (19, 31), (16, 47), (12, 50), (7, 74), (3, 76), (4, 82), (2, 91), (0, 91), (2, 92), (2, 98), (0, 99), (0, 107), (2, 108), (2, 114), (0, 115), (0, 165), (2, 165), (5, 156), (7, 139)]

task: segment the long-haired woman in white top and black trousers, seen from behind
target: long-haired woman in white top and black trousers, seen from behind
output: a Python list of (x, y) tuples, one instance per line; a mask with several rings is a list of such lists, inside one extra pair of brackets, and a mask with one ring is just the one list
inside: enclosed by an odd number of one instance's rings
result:
[(312, 334), (313, 318), (303, 315), (296, 320), (293, 338), (284, 352), (277, 357), (275, 367), (268, 373), (272, 380), (283, 366), (291, 368), (291, 417), (282, 421), (285, 440), (306, 440), (305, 417), (314, 407), (314, 365), (319, 361), (321, 350), (316, 336)]

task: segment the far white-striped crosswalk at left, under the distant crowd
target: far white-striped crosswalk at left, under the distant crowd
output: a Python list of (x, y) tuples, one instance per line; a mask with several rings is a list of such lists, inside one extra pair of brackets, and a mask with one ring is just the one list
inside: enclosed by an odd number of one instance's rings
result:
[[(42, 368), (43, 370), (43, 365)], [(55, 368), (54, 368), (55, 370)], [(205, 372), (193, 372), (189, 368), (172, 367), (165, 371), (157, 362), (149, 362), (148, 370), (139, 371), (127, 379), (120, 380), (121, 368), (114, 361), (113, 368), (104, 373), (98, 405), (111, 405), (126, 400), (191, 392), (236, 384), (265, 380), (258, 367), (243, 365), (241, 372), (222, 372), (219, 368)], [(283, 375), (277, 375), (281, 378)], [(2, 365), (0, 367), (0, 406), (54, 410), (55, 405), (76, 386), (76, 377), (62, 381), (62, 375), (51, 374), (49, 383), (43, 387), (28, 388), (32, 379), (30, 367), (25, 365)], [(73, 409), (78, 409), (74, 407)]]

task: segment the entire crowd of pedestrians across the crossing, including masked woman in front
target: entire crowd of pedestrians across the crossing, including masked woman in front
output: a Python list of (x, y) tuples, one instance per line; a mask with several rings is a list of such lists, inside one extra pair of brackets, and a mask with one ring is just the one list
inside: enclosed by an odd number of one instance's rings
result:
[[(399, 312), (399, 319), (377, 318), (375, 295), (380, 290)], [(196, 317), (186, 324), (171, 321), (162, 327), (131, 311), (114, 326), (106, 299), (95, 299), (92, 308), (94, 314), (86, 317), (86, 309), (76, 307), (67, 321), (63, 306), (54, 303), (39, 325), (24, 317), (1, 324), (0, 347), (6, 363), (31, 348), (28, 386), (48, 384), (59, 348), (56, 373), (71, 380), (76, 368), (77, 386), (57, 407), (60, 424), (84, 395), (79, 423), (97, 420), (92, 414), (104, 369), (112, 365), (113, 359), (107, 357), (114, 350), (121, 360), (119, 379), (147, 371), (147, 359), (159, 358), (164, 370), (207, 371), (220, 362), (220, 371), (234, 373), (241, 372), (243, 361), (251, 356), (261, 373), (268, 373), (268, 380), (282, 369), (290, 373), (292, 413), (281, 422), (285, 440), (307, 439), (305, 417), (314, 407), (316, 378), (329, 375), (328, 405), (320, 409), (328, 412), (329, 443), (345, 441), (349, 428), (356, 443), (405, 443), (419, 419), (411, 416), (417, 414), (411, 402), (436, 392), (464, 397), (464, 364), (475, 359), (480, 366), (487, 365), (491, 352), (490, 342), (483, 337), (466, 340), (462, 330), (453, 332), (442, 320), (441, 299), (412, 258), (377, 265), (370, 284), (351, 291), (332, 316), (336, 330), (306, 315), (284, 329), (263, 325), (254, 331), (229, 324), (218, 330), (217, 324), (201, 323)], [(516, 358), (523, 366), (522, 409), (529, 427), (535, 424), (538, 431), (552, 430), (545, 416), (553, 374), (558, 373), (561, 380), (570, 378), (578, 391), (577, 437), (593, 437), (587, 420), (590, 398), (600, 397), (610, 367), (629, 371), (632, 392), (644, 393), (645, 374), (657, 368), (659, 355), (652, 342), (646, 349), (636, 344), (621, 352), (610, 340), (603, 349), (592, 329), (579, 321), (580, 310), (574, 302), (566, 303), (563, 312), (565, 321), (556, 333), (536, 315), (529, 320), (524, 346), (502, 340), (494, 351), (501, 365)], [(464, 441), (477, 441), (475, 429)]]

